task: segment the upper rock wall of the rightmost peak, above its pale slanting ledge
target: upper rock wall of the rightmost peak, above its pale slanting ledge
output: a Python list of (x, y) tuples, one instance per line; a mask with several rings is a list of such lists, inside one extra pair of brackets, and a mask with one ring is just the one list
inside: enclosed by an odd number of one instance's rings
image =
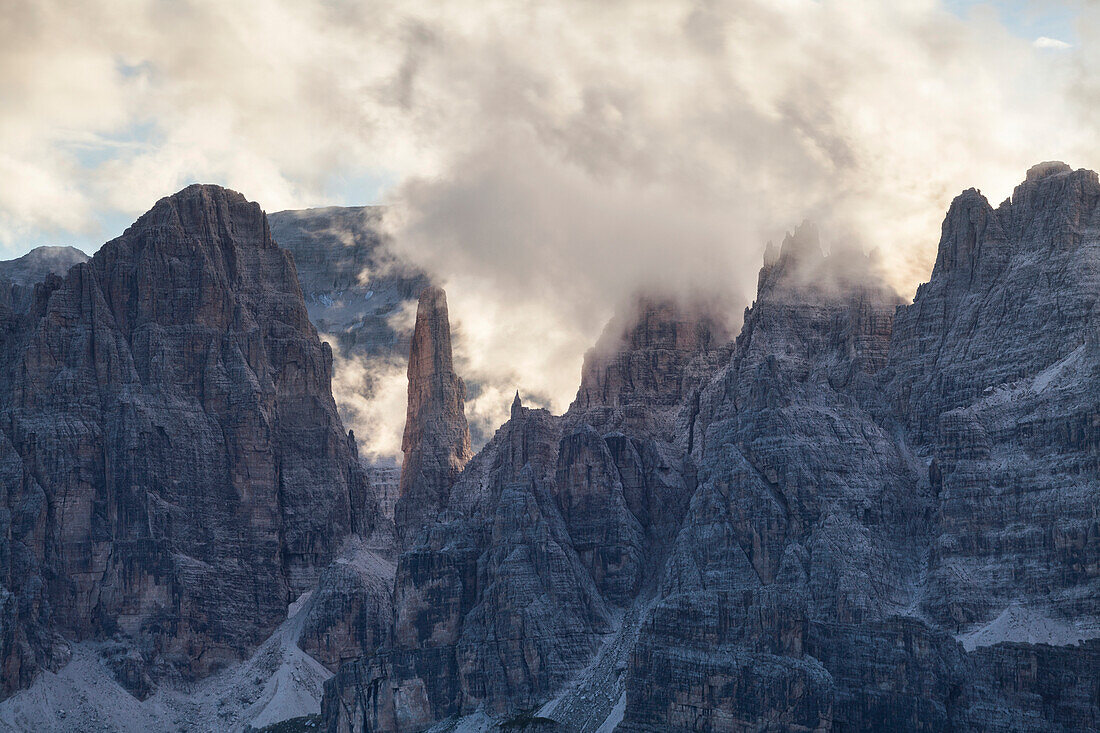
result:
[(1041, 164), (998, 208), (975, 189), (944, 219), (932, 278), (898, 317), (897, 412), (934, 439), (942, 413), (1034, 376), (1094, 330), (1100, 183)]

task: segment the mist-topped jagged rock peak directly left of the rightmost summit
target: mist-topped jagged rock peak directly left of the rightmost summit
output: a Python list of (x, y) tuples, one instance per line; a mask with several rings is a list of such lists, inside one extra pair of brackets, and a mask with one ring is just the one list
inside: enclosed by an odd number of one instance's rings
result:
[[(923, 714), (910, 686), (925, 678), (853, 690), (813, 650), (845, 630), (872, 645), (920, 637), (919, 625), (875, 626), (911, 602), (931, 496), (866, 406), (899, 299), (859, 269), (871, 272), (824, 256), (809, 227), (766, 261), (732, 358), (698, 401), (698, 489), (635, 647), (619, 730), (890, 730)], [(858, 718), (839, 709), (861, 694)]]

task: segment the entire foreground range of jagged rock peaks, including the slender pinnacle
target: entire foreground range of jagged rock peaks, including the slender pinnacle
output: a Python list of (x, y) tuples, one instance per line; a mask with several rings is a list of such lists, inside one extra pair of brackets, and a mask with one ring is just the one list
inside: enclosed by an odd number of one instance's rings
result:
[(801, 227), (735, 341), (641, 300), (473, 458), (429, 288), (393, 562), (293, 260), (189, 187), (0, 288), (3, 690), (118, 636), (144, 694), (314, 590), (331, 731), (1098, 730), (1097, 248), (1096, 174), (1054, 163), (958, 197), (909, 306)]

